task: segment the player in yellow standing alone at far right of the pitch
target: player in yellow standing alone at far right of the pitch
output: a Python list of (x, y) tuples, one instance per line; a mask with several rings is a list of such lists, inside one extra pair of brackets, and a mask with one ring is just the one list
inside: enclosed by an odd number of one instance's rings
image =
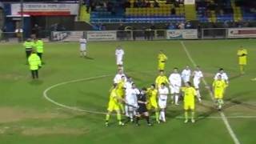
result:
[(245, 66), (247, 64), (247, 54), (247, 50), (240, 46), (240, 49), (238, 50), (238, 64), (240, 66), (241, 74), (245, 73)]

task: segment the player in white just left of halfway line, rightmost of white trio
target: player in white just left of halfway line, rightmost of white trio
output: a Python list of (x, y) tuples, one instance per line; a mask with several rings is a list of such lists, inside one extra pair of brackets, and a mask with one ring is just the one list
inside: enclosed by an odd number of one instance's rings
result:
[(199, 102), (202, 102), (201, 99), (201, 94), (199, 91), (199, 84), (201, 82), (201, 78), (203, 77), (202, 71), (200, 70), (200, 67), (197, 66), (196, 69), (193, 72), (193, 83), (194, 83), (194, 88), (197, 92), (197, 98)]

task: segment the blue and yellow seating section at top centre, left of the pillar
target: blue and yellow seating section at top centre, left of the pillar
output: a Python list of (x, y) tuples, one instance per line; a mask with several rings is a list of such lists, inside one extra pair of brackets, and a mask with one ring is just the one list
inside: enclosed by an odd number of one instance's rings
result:
[(185, 22), (185, 9), (176, 1), (96, 2), (91, 6), (90, 22)]

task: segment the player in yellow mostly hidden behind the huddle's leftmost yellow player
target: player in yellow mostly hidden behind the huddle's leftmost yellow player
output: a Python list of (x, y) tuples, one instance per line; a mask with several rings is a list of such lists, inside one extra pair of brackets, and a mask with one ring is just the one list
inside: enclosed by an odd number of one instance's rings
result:
[[(126, 83), (126, 77), (123, 75), (121, 77), (121, 81), (118, 82), (118, 88), (117, 88), (117, 94), (120, 98), (125, 98), (125, 83)], [(125, 108), (123, 105), (123, 102), (119, 102), (120, 109), (122, 111), (122, 114), (125, 114)]]

